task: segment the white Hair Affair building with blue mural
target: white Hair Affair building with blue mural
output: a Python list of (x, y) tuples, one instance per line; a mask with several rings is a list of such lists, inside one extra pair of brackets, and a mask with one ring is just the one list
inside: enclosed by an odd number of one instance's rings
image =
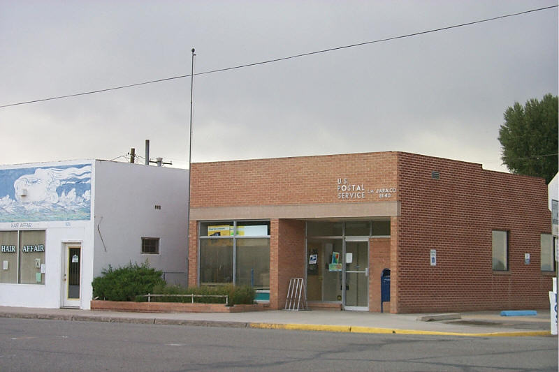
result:
[(187, 282), (188, 171), (85, 160), (0, 165), (0, 305), (89, 309), (129, 262)]

